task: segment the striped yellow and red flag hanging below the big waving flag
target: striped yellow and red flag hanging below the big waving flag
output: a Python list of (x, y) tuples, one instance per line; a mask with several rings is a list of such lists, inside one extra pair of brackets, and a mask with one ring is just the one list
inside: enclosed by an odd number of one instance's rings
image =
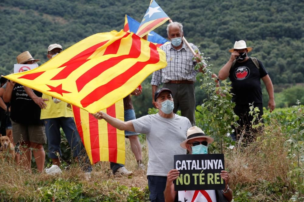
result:
[[(110, 161), (125, 164), (124, 131), (114, 128), (105, 120), (95, 119), (77, 106), (72, 109), (79, 136), (91, 163)], [(123, 121), (123, 99), (102, 111)]]

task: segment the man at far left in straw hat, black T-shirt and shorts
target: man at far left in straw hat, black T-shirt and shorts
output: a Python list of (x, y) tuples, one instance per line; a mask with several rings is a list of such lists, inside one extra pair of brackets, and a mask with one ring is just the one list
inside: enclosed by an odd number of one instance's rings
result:
[[(18, 64), (36, 64), (38, 61), (40, 59), (33, 59), (28, 51), (17, 56)], [(36, 66), (38, 67), (38, 64)], [(46, 143), (47, 138), (44, 125), (40, 120), (41, 106), (36, 103), (41, 104), (45, 100), (41, 98), (42, 93), (36, 90), (32, 92), (39, 100), (30, 99), (22, 85), (10, 81), (7, 82), (3, 100), (11, 104), (13, 140), (15, 143), (20, 143), (20, 148), (25, 154), (26, 158), (22, 160), (23, 166), (27, 170), (31, 169), (32, 150), (29, 148), (33, 148), (37, 168), (42, 173), (45, 161), (43, 144)]]

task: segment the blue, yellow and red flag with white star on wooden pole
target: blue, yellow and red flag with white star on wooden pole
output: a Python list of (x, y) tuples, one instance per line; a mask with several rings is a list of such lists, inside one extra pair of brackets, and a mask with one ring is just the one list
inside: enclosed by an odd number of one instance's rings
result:
[(143, 20), (140, 23), (136, 35), (143, 37), (169, 19), (170, 18), (163, 9), (161, 9), (154, 0), (151, 0), (150, 6), (143, 16)]

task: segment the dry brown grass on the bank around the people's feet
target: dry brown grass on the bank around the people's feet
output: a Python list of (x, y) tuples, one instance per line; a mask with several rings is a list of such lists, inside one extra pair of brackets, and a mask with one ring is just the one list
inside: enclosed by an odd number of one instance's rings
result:
[[(284, 201), (276, 194), (271, 194), (269, 184), (275, 184), (277, 177), (288, 186), (288, 165), (286, 158), (287, 148), (284, 134), (280, 130), (265, 128), (264, 132), (257, 134), (257, 140), (246, 147), (236, 147), (234, 150), (226, 149), (226, 168), (230, 172), (230, 187), (236, 191), (248, 191), (253, 196), (250, 201)], [(147, 164), (147, 143), (143, 143), (143, 162)], [(119, 186), (125, 185), (129, 188), (139, 187), (145, 190), (147, 186), (146, 171), (136, 170), (136, 160), (130, 148), (130, 141), (126, 140), (126, 168), (133, 171), (132, 177), (116, 177), (111, 174), (109, 162), (97, 163), (93, 166), (92, 179), (85, 180), (84, 173), (77, 165), (72, 165), (69, 170), (64, 170), (60, 176), (49, 176), (45, 173), (35, 174), (24, 172), (21, 167), (0, 162), (0, 191), (13, 201), (18, 201), (20, 196), (37, 197), (38, 188), (47, 183), (54, 183), (59, 177), (67, 181), (82, 183), (83, 192), (86, 196), (117, 196), (117, 201), (124, 201), (119, 194)], [(267, 185), (268, 183), (268, 185)], [(271, 186), (270, 186), (271, 187)], [(88, 193), (87, 190), (94, 190)], [(114, 193), (114, 194), (113, 194)], [(270, 194), (269, 194), (270, 193)], [(124, 194), (128, 194), (127, 192)], [(37, 201), (41, 198), (37, 198)], [(0, 200), (1, 201), (1, 200)]]

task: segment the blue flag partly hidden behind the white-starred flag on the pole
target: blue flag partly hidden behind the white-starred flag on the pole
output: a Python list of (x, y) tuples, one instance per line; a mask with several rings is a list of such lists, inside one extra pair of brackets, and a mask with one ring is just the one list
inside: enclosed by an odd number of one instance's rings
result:
[[(129, 15), (125, 16), (125, 25), (123, 27), (123, 31), (125, 32), (134, 32), (136, 33), (139, 28), (140, 23), (137, 22), (135, 19), (131, 18)], [(167, 39), (162, 37), (161, 35), (157, 34), (154, 31), (151, 31), (148, 34), (148, 41), (154, 43), (157, 47), (169, 42)]]

